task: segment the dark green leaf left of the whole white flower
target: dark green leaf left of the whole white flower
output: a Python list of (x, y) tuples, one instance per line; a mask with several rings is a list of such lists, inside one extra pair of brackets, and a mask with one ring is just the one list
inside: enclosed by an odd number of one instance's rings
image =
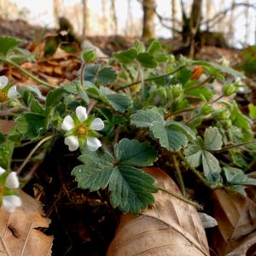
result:
[(22, 113), (15, 122), (17, 131), (30, 139), (38, 138), (46, 129), (46, 119), (38, 113)]

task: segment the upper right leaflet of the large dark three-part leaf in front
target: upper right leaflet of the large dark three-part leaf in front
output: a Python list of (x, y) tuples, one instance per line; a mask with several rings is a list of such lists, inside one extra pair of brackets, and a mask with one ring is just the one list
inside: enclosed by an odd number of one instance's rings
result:
[(152, 166), (157, 160), (156, 151), (148, 143), (122, 139), (114, 147), (114, 156), (120, 165)]

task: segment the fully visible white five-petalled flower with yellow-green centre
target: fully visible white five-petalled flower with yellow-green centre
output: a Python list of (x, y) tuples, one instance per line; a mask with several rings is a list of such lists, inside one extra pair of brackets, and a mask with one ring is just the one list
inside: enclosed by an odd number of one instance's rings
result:
[(86, 108), (79, 106), (76, 108), (76, 115), (72, 118), (67, 115), (61, 124), (61, 129), (67, 131), (64, 143), (70, 151), (75, 151), (80, 146), (85, 146), (90, 151), (96, 151), (102, 146), (97, 139), (96, 131), (104, 128), (102, 119), (88, 118)]

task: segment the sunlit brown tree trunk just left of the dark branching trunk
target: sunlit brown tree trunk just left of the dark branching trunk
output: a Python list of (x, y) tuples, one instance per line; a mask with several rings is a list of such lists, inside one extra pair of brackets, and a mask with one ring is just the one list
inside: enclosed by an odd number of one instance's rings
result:
[(143, 38), (154, 38), (154, 0), (143, 0)]

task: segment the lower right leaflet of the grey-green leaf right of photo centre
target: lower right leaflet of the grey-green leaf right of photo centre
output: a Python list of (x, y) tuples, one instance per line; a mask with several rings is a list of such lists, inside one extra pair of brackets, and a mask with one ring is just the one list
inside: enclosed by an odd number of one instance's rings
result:
[(166, 127), (162, 123), (154, 123), (150, 126), (150, 131), (156, 139), (159, 139), (163, 148), (177, 151), (188, 144), (188, 138), (181, 131), (177, 131), (172, 127)]

